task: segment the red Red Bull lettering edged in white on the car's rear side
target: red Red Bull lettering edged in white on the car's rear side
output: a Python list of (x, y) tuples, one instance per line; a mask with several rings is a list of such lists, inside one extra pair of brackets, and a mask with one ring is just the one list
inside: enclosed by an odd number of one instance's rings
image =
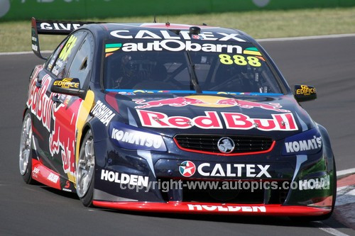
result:
[[(36, 78), (39, 73), (38, 69), (33, 73), (33, 77)], [(52, 100), (53, 94), (47, 96), (46, 91), (50, 85), (51, 78), (47, 74), (43, 77), (41, 86), (36, 86), (37, 79), (32, 79), (30, 84), (30, 89), (28, 92), (27, 106), (31, 109), (31, 112), (35, 114), (38, 120), (42, 121), (43, 127), (48, 131), (50, 130), (50, 116), (52, 115), (53, 103)]]

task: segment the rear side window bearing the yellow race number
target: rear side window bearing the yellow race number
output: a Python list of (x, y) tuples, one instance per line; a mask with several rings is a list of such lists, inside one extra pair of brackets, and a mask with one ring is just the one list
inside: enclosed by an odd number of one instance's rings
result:
[(69, 65), (68, 63), (70, 62), (72, 55), (76, 52), (77, 47), (81, 44), (85, 35), (87, 35), (85, 31), (78, 31), (70, 35), (65, 44), (62, 46), (52, 69), (52, 73), (55, 74), (58, 79), (62, 79), (64, 77), (67, 72), (67, 66)]

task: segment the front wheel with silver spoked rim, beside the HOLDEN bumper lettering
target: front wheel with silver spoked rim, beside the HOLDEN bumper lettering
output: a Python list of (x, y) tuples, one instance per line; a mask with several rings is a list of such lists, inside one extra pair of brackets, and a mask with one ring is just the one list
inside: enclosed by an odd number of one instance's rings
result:
[(92, 131), (88, 130), (80, 147), (76, 175), (77, 196), (79, 196), (82, 204), (87, 207), (92, 206), (92, 197), (94, 195), (94, 169), (94, 140)]

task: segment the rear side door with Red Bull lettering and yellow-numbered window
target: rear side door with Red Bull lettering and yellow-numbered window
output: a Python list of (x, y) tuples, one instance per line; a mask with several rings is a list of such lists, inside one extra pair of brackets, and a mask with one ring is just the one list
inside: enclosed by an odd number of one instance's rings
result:
[[(33, 113), (33, 137), (35, 150), (40, 162), (49, 169), (57, 173), (58, 162), (56, 162), (53, 152), (50, 152), (48, 140), (53, 130), (53, 101), (54, 94), (50, 91), (50, 86), (54, 79), (61, 77), (70, 63), (70, 55), (80, 45), (86, 32), (77, 31), (65, 38), (58, 48), (48, 58), (43, 65), (35, 67), (31, 76), (31, 84), (28, 94), (27, 106)], [(57, 183), (55, 183), (57, 184)]]

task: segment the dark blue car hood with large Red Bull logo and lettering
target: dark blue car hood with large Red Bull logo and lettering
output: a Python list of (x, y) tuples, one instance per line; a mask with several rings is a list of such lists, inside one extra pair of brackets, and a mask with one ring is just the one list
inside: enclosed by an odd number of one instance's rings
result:
[(120, 122), (160, 133), (261, 135), (280, 140), (315, 127), (292, 95), (106, 94)]

